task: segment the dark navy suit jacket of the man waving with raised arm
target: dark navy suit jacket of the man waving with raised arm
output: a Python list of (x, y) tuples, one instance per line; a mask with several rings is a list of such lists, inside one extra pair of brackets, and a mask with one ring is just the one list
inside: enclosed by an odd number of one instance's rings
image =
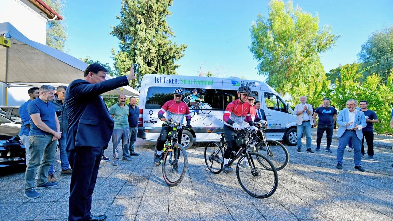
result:
[(100, 94), (125, 85), (128, 85), (126, 76), (95, 84), (82, 79), (70, 83), (64, 98), (68, 116), (67, 150), (108, 144), (114, 121)]

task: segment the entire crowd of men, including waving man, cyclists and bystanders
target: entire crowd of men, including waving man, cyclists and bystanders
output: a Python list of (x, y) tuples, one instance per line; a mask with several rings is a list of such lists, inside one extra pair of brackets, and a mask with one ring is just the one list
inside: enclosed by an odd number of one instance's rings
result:
[[(119, 160), (119, 146), (122, 148), (122, 160), (132, 161), (135, 152), (135, 142), (138, 133), (139, 108), (136, 98), (129, 98), (129, 105), (125, 105), (127, 98), (119, 95), (118, 103), (108, 109), (102, 97), (104, 92), (129, 84), (135, 79), (134, 68), (126, 76), (116, 77), (105, 81), (108, 71), (100, 64), (90, 64), (84, 71), (84, 78), (77, 79), (68, 87), (62, 85), (56, 89), (50, 85), (33, 87), (28, 90), (30, 99), (19, 108), (22, 118), (22, 127), (19, 133), (21, 142), (26, 147), (26, 173), (24, 196), (28, 199), (40, 197), (36, 190), (57, 186), (54, 177), (53, 160), (58, 146), (61, 160), (61, 175), (70, 175), (69, 220), (95, 220), (106, 219), (105, 215), (92, 215), (92, 193), (99, 164), (109, 161), (104, 150), (112, 137), (112, 165), (117, 166)], [(174, 99), (167, 101), (158, 112), (160, 120), (172, 118), (187, 121), (191, 127), (190, 111), (182, 101), (184, 92), (182, 88), (174, 90)], [(247, 86), (237, 90), (237, 97), (226, 107), (222, 120), (224, 121), (224, 134), (227, 149), (224, 153), (223, 171), (230, 173), (233, 169), (228, 166), (233, 151), (239, 150), (236, 140), (240, 136), (242, 127), (258, 130), (254, 122), (267, 119), (260, 101)], [(320, 151), (323, 133), (326, 133), (327, 145), (325, 151), (332, 153), (330, 148), (334, 125), (339, 125), (337, 135), (339, 144), (336, 153), (337, 166), (342, 169), (343, 151), (347, 145), (354, 150), (354, 168), (365, 171), (361, 166), (361, 158), (365, 155), (364, 140), (367, 143), (367, 155), (373, 160), (373, 123), (378, 122), (374, 111), (367, 109), (368, 102), (358, 102), (354, 99), (347, 101), (347, 107), (337, 112), (330, 105), (328, 98), (323, 99), (321, 107), (313, 111), (312, 105), (307, 103), (307, 97), (301, 96), (300, 103), (295, 106), (297, 125), (298, 151), (302, 151), (302, 134), (306, 134), (306, 151), (314, 153), (311, 149), (311, 125), (317, 127), (317, 147)], [(166, 116), (163, 116), (165, 114)], [(393, 117), (393, 110), (392, 110)], [(393, 127), (393, 118), (390, 123)], [(157, 155), (154, 162), (160, 160), (161, 147), (168, 135), (165, 124), (162, 127), (160, 140), (157, 144)], [(179, 131), (179, 139), (181, 139)], [(121, 145), (120, 144), (121, 141)], [(351, 151), (349, 148), (348, 151)], [(247, 162), (242, 163), (249, 168)], [(393, 166), (393, 165), (392, 165)], [(37, 182), (35, 183), (35, 179)]]

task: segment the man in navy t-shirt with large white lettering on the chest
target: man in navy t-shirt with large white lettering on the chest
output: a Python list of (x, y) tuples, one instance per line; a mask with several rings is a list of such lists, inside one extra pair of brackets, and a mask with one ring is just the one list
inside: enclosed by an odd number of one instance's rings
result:
[(317, 128), (317, 148), (315, 151), (320, 151), (321, 140), (323, 132), (326, 131), (326, 148), (325, 151), (332, 153), (330, 145), (332, 144), (334, 122), (337, 119), (337, 110), (330, 106), (330, 99), (324, 98), (322, 107), (318, 107), (314, 115), (314, 125), (316, 124), (316, 116), (318, 115), (318, 128)]

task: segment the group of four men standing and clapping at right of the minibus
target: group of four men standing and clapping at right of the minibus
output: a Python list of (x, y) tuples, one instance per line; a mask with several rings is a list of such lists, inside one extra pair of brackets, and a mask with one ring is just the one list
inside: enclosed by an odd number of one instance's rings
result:
[[(378, 123), (378, 117), (376, 116), (375, 111), (367, 109), (369, 105), (368, 101), (361, 100), (359, 102), (359, 108), (358, 101), (355, 99), (349, 99), (346, 103), (347, 107), (340, 110), (338, 114), (337, 110), (330, 105), (329, 98), (324, 98), (321, 106), (314, 112), (312, 105), (306, 103), (306, 101), (307, 97), (301, 96), (300, 104), (295, 106), (294, 114), (296, 115), (298, 133), (298, 151), (301, 152), (301, 138), (304, 130), (307, 136), (306, 151), (314, 153), (311, 149), (311, 125), (316, 124), (316, 117), (318, 116), (316, 138), (317, 147), (315, 151), (320, 151), (322, 136), (323, 133), (326, 133), (325, 151), (332, 153), (330, 146), (332, 143), (334, 125), (337, 123), (337, 125), (339, 125), (337, 130), (337, 136), (339, 139), (336, 153), (336, 168), (342, 169), (343, 152), (348, 145), (349, 147), (347, 151), (354, 151), (354, 168), (364, 172), (365, 169), (361, 166), (361, 158), (365, 156), (364, 140), (367, 143), (368, 159), (374, 160), (373, 123)], [(391, 126), (393, 127), (393, 124), (391, 124)]]

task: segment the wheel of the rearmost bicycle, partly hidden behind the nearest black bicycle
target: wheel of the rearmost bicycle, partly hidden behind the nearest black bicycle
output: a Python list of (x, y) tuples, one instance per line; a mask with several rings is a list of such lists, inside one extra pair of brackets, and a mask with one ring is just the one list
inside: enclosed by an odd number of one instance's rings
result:
[[(269, 145), (269, 148), (266, 146), (266, 144), (263, 141), (261, 141), (259, 142), (259, 144), (257, 144), (255, 152), (264, 155), (270, 161), (272, 161), (277, 171), (285, 168), (285, 166), (289, 162), (289, 154), (285, 146), (280, 142), (278, 142), (277, 140), (266, 140), (266, 143), (267, 145)], [(261, 164), (263, 164), (264, 162), (263, 159), (262, 160), (258, 159), (258, 161)], [(266, 166), (267, 169), (270, 169), (269, 165), (267, 164), (263, 164), (263, 165)]]

